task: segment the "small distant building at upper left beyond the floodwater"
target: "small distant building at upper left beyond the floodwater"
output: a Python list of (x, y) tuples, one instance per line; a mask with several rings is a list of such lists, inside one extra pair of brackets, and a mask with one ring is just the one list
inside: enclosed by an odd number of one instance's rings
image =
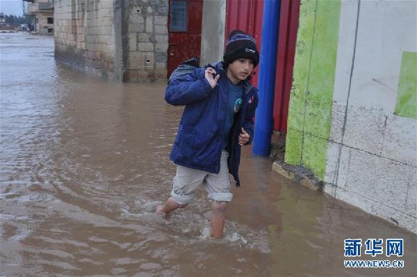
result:
[(54, 1), (23, 0), (28, 2), (25, 15), (32, 17), (31, 29), (41, 35), (54, 35)]

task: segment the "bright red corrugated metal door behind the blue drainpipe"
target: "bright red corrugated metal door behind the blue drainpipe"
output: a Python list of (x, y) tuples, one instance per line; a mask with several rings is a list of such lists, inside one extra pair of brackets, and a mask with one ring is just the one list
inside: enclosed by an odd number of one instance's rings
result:
[[(264, 0), (227, 0), (226, 37), (231, 30), (240, 29), (252, 35), (261, 50), (263, 2)], [(273, 117), (274, 129), (282, 132), (286, 132), (299, 14), (300, 0), (281, 0)], [(258, 84), (256, 72), (259, 72), (260, 67), (258, 65), (254, 70), (254, 86)]]

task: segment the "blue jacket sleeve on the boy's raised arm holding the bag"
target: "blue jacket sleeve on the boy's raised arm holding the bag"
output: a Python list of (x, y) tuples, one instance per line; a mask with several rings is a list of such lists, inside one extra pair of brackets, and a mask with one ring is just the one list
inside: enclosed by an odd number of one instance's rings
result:
[(204, 68), (197, 68), (170, 81), (165, 90), (165, 101), (174, 106), (186, 105), (202, 100), (212, 92), (213, 88), (204, 77)]

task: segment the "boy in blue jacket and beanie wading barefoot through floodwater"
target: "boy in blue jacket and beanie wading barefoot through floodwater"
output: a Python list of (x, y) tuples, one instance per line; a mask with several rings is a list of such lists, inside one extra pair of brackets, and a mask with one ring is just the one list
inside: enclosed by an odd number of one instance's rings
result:
[(177, 164), (171, 197), (156, 212), (168, 214), (190, 203), (200, 184), (211, 203), (211, 236), (223, 235), (231, 201), (229, 173), (240, 186), (240, 147), (252, 143), (258, 90), (250, 74), (259, 63), (254, 38), (235, 30), (223, 61), (170, 80), (165, 100), (186, 105), (170, 158)]

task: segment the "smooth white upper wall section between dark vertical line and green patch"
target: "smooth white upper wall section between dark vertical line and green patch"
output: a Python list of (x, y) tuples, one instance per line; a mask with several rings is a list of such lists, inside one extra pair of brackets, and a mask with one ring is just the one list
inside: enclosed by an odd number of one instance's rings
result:
[(393, 113), (402, 52), (416, 52), (416, 1), (361, 1), (349, 104)]

